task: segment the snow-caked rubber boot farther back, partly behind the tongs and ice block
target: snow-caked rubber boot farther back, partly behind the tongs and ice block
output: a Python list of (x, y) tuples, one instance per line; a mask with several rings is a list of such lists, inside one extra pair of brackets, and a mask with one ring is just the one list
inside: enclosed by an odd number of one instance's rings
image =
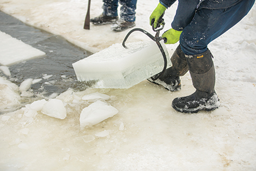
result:
[(180, 45), (175, 49), (170, 61), (172, 61), (173, 66), (167, 68), (162, 77), (155, 81), (151, 78), (148, 80), (151, 83), (162, 85), (169, 91), (178, 91), (181, 89), (180, 77), (185, 75), (188, 71), (186, 57)]

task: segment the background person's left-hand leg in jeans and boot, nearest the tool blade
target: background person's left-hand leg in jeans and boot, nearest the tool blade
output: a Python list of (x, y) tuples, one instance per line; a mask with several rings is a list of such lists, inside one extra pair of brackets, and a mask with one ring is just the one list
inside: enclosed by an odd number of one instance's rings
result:
[(118, 20), (118, 0), (103, 0), (103, 12), (100, 16), (92, 18), (90, 21), (94, 25), (113, 24)]

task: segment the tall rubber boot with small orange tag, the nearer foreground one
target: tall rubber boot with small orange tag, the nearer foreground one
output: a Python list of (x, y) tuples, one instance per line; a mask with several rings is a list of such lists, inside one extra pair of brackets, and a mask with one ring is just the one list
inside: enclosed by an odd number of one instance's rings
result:
[(192, 83), (196, 92), (186, 97), (175, 98), (172, 107), (179, 112), (197, 113), (211, 111), (220, 106), (215, 92), (215, 68), (210, 50), (198, 55), (186, 55)]

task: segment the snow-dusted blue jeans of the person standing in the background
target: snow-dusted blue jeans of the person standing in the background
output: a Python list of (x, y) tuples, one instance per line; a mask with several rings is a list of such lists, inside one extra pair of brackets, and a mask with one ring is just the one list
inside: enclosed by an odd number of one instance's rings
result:
[(103, 0), (103, 15), (118, 16), (118, 2), (122, 5), (120, 18), (129, 22), (135, 21), (137, 0)]

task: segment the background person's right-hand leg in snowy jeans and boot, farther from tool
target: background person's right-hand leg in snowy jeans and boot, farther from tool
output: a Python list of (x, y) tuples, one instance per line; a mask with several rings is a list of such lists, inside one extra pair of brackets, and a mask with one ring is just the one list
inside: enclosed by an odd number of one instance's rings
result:
[(114, 31), (123, 31), (135, 26), (135, 10), (137, 0), (120, 0), (120, 19), (116, 21), (111, 29)]

